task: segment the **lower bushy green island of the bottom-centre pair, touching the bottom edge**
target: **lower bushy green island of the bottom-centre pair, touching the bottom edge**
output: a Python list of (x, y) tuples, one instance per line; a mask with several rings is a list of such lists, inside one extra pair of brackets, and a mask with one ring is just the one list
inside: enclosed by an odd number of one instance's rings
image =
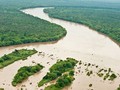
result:
[(45, 88), (45, 90), (62, 90), (65, 86), (68, 86), (74, 80), (73, 75), (64, 74), (56, 81), (56, 84), (52, 84)]

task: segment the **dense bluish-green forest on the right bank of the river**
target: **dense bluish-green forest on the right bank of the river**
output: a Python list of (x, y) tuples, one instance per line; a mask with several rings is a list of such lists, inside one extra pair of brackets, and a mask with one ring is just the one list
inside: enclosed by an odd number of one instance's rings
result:
[(110, 8), (56, 7), (45, 9), (50, 17), (81, 23), (120, 43), (120, 12)]

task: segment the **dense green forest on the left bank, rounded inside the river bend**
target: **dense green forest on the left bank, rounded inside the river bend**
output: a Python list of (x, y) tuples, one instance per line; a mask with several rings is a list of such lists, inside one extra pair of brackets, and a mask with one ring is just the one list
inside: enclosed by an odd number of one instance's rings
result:
[(17, 10), (0, 10), (0, 46), (55, 41), (65, 35), (59, 25)]

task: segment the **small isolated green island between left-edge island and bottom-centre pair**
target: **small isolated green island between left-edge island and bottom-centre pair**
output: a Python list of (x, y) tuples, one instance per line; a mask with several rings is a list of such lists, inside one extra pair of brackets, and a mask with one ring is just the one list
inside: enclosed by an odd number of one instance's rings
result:
[(21, 67), (17, 74), (15, 75), (12, 85), (16, 86), (19, 83), (22, 83), (23, 80), (27, 79), (29, 76), (39, 72), (41, 69), (43, 69), (43, 66), (40, 64), (37, 64), (35, 66), (24, 66)]

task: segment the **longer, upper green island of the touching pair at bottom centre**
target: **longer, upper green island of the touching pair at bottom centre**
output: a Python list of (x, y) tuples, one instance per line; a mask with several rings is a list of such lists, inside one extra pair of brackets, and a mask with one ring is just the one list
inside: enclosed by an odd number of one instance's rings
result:
[(77, 64), (77, 61), (72, 58), (67, 58), (66, 60), (60, 60), (56, 64), (54, 64), (49, 70), (50, 72), (43, 77), (43, 79), (39, 82), (38, 86), (42, 86), (45, 83), (48, 83), (52, 80), (57, 79), (63, 73), (70, 71), (70, 74), (73, 75), (74, 66)]

